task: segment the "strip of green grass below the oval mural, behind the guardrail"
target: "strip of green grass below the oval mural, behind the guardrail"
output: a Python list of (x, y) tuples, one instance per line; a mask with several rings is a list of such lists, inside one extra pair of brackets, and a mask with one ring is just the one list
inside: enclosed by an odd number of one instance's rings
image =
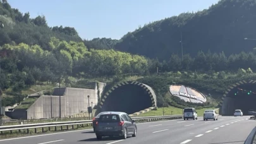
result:
[[(204, 108), (204, 109), (197, 109), (197, 115), (198, 116), (203, 116), (204, 115), (204, 111), (207, 109), (212, 109), (212, 108)], [(157, 110), (152, 110), (149, 112), (145, 112), (143, 114), (138, 115), (138, 117), (140, 116), (162, 116), (163, 114), (163, 109), (162, 107), (157, 108)], [(219, 111), (217, 111), (219, 113)], [(168, 115), (182, 115), (183, 114), (183, 109), (177, 108), (177, 107), (164, 107), (164, 116), (168, 116)]]

